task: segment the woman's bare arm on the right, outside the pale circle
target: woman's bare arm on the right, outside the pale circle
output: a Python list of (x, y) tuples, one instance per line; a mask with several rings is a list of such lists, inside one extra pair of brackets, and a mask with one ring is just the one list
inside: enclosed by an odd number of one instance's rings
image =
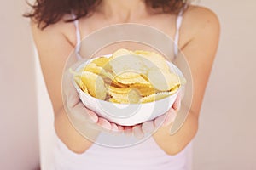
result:
[[(185, 31), (195, 32), (194, 36), (182, 48), (193, 79), (193, 100), (189, 116), (183, 123), (183, 127), (174, 135), (169, 134), (172, 125), (160, 127), (154, 133), (156, 143), (169, 155), (175, 155), (183, 150), (197, 132), (201, 103), (218, 48), (220, 31), (218, 18), (207, 8), (189, 9), (184, 14), (181, 33), (183, 34)], [(182, 105), (181, 110), (184, 107), (185, 105)]]

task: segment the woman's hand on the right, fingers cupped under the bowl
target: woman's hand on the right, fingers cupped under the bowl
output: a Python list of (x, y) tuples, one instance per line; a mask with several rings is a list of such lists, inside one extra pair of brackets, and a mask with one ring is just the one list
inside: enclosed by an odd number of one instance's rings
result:
[(141, 124), (133, 126), (131, 128), (133, 135), (137, 139), (143, 139), (143, 137), (145, 136), (145, 133), (153, 133), (154, 130), (156, 130), (161, 126), (166, 127), (172, 124), (172, 122), (174, 122), (177, 116), (177, 111), (179, 111), (180, 106), (181, 106), (181, 93), (177, 95), (177, 99), (175, 100), (171, 109), (166, 112), (166, 114), (162, 116), (158, 116), (152, 121), (143, 122)]

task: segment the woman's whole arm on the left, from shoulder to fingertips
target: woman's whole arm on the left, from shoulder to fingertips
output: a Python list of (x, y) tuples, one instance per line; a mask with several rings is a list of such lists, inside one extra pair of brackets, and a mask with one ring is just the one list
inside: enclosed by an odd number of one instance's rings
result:
[(79, 64), (75, 56), (69, 57), (73, 54), (76, 42), (76, 37), (70, 36), (75, 35), (73, 23), (60, 21), (48, 26), (44, 31), (32, 23), (32, 34), (54, 109), (55, 132), (69, 150), (84, 153), (92, 144), (91, 141), (95, 141), (102, 131), (122, 132), (124, 127), (97, 116), (82, 104), (72, 84), (73, 75), (68, 70), (64, 71), (67, 60), (68, 67)]

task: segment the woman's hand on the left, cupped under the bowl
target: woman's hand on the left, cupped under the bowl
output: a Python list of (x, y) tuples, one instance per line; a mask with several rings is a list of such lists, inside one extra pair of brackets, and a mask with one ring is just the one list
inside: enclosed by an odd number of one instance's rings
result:
[[(77, 65), (77, 64), (76, 64)], [(75, 69), (75, 66), (72, 69)], [(96, 112), (86, 108), (82, 101), (79, 99), (79, 94), (73, 86), (73, 74), (69, 70), (65, 71), (62, 77), (62, 97), (63, 105), (66, 109), (67, 116), (72, 122), (73, 126), (79, 130), (79, 133), (95, 136), (95, 133), (102, 131), (108, 133), (123, 133), (124, 127), (119, 126), (113, 122), (109, 122), (107, 119), (100, 117)], [(95, 132), (91, 134), (91, 132)]]

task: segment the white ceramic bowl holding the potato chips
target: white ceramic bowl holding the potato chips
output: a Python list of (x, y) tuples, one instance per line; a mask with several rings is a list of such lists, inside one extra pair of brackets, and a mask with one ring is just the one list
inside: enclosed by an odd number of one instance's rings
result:
[[(90, 60), (79, 65), (76, 71), (79, 71), (89, 62)], [(176, 65), (173, 65), (170, 62), (167, 62), (167, 64), (170, 66), (171, 71), (183, 77), (183, 73)], [(79, 93), (79, 98), (87, 108), (95, 111), (98, 116), (104, 117), (110, 122), (115, 122), (123, 126), (132, 126), (138, 123), (147, 122), (149, 120), (153, 120), (157, 116), (165, 114), (166, 111), (172, 107), (175, 99), (177, 98), (178, 92), (182, 88), (180, 87), (175, 94), (154, 102), (143, 104), (116, 104), (96, 99), (89, 94), (84, 93), (74, 81), (73, 85)]]

